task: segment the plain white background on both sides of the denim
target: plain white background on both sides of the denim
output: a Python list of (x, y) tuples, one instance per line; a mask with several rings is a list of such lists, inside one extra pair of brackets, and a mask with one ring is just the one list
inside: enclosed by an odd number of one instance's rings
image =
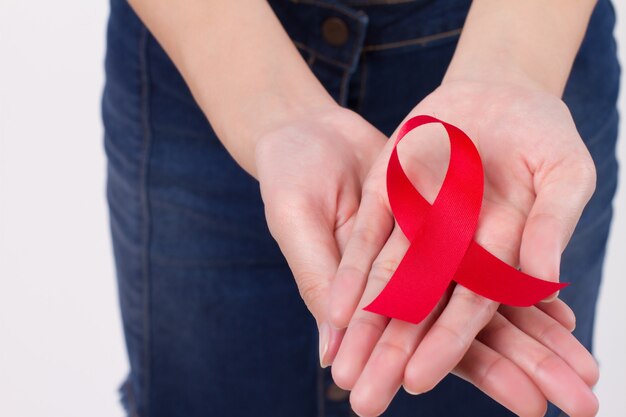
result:
[[(107, 12), (104, 0), (0, 3), (0, 416), (123, 415), (99, 113)], [(596, 332), (603, 417), (626, 416), (624, 236), (621, 190)]]

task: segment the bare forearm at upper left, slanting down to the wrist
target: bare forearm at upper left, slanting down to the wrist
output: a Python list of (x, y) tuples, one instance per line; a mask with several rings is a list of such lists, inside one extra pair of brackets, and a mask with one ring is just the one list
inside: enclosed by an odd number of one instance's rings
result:
[(255, 175), (264, 131), (334, 101), (264, 0), (130, 0), (216, 134)]

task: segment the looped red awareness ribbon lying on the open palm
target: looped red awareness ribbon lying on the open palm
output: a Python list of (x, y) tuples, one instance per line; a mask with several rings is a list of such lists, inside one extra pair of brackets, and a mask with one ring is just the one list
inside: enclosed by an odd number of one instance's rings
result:
[[(448, 171), (432, 206), (411, 184), (397, 150), (407, 133), (428, 123), (441, 123), (450, 139)], [(520, 307), (567, 285), (524, 274), (474, 242), (483, 181), (478, 150), (462, 130), (431, 116), (416, 116), (402, 125), (387, 166), (387, 195), (411, 244), (383, 291), (365, 310), (419, 323), (452, 280), (491, 300)]]

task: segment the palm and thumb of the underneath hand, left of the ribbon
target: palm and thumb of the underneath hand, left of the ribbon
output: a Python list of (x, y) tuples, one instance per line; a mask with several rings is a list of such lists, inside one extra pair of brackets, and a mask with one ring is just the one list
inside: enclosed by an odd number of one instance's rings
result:
[[(322, 366), (343, 333), (328, 325), (330, 283), (361, 201), (361, 184), (385, 141), (359, 115), (336, 105), (277, 125), (256, 141), (267, 222), (317, 321)], [(391, 220), (386, 221), (388, 228)]]

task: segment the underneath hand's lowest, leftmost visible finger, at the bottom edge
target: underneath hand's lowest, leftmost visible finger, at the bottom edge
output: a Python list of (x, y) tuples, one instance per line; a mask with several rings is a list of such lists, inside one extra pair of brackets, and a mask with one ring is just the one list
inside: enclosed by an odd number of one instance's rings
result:
[(472, 341), (453, 373), (518, 416), (546, 412), (546, 398), (524, 371), (478, 340)]

